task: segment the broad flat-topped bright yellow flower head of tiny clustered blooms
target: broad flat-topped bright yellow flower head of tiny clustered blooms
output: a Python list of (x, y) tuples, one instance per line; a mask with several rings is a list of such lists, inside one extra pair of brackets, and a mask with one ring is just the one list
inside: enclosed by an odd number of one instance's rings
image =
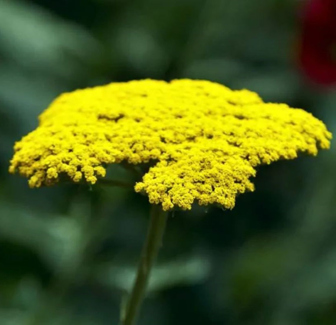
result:
[(61, 175), (94, 184), (108, 164), (152, 162), (135, 185), (151, 203), (233, 208), (237, 194), (253, 191), (257, 165), (316, 155), (330, 139), (310, 113), (264, 103), (248, 90), (146, 79), (60, 95), (15, 144), (9, 171), (29, 177), (31, 187)]

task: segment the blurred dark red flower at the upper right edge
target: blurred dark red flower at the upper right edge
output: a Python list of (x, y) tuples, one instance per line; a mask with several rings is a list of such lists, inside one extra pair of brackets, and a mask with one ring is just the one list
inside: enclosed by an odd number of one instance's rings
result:
[(336, 83), (336, 0), (310, 0), (305, 5), (300, 62), (314, 82)]

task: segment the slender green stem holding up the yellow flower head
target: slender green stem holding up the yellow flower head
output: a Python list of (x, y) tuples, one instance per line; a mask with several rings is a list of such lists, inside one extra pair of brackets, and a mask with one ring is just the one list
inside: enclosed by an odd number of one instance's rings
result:
[(136, 279), (129, 296), (125, 312), (122, 315), (122, 325), (133, 325), (140, 309), (153, 263), (162, 245), (168, 213), (160, 206), (153, 205), (147, 237), (142, 247), (140, 263), (136, 272)]

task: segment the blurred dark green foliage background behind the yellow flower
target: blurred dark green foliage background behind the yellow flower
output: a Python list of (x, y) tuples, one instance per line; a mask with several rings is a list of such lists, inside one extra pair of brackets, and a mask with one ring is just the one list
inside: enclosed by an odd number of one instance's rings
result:
[[(118, 324), (148, 221), (118, 188), (29, 189), (12, 146), (61, 92), (140, 78), (257, 91), (336, 132), (294, 0), (0, 0), (0, 324)], [(336, 324), (336, 150), (258, 169), (232, 211), (169, 218), (140, 325)], [(132, 180), (118, 166), (109, 172)]]

